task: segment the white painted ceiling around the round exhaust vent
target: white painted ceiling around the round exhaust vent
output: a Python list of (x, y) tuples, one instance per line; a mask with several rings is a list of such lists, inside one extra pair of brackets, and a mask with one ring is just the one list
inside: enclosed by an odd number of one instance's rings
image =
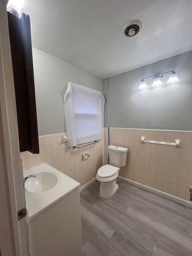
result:
[[(191, 0), (25, 0), (32, 46), (101, 78), (192, 50)], [(140, 20), (134, 37), (122, 35)]]

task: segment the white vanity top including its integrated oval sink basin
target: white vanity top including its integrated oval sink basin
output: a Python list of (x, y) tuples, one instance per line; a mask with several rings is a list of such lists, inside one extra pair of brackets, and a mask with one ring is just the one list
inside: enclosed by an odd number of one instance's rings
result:
[(24, 177), (32, 174), (36, 174), (37, 177), (29, 178), (25, 182), (28, 221), (80, 186), (79, 182), (49, 164), (40, 164), (23, 171)]

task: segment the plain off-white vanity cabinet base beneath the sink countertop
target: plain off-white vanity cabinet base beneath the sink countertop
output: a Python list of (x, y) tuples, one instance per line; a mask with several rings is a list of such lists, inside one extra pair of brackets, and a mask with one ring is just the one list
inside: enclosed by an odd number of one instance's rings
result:
[(79, 188), (28, 222), (31, 256), (82, 256)]

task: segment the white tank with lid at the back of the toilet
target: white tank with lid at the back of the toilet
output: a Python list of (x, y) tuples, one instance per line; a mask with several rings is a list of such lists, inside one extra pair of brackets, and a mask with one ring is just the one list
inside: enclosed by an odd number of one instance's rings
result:
[(125, 166), (128, 152), (127, 148), (110, 145), (108, 146), (108, 150), (110, 164), (117, 167)]

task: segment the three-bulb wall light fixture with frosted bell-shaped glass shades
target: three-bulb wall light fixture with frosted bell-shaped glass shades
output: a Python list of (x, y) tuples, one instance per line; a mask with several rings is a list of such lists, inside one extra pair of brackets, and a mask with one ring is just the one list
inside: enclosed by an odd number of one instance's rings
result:
[[(171, 73), (171, 74), (170, 74), (170, 77), (169, 77), (169, 80), (167, 81), (167, 83), (170, 84), (170, 83), (177, 83), (177, 82), (179, 82), (179, 79), (177, 78), (177, 74), (173, 70), (173, 71), (165, 72), (163, 74), (157, 73), (157, 74), (155, 74), (155, 76), (152, 76), (153, 77), (152, 87), (157, 87), (157, 86), (162, 85), (161, 79), (162, 79), (164, 74), (168, 74), (168, 73)], [(151, 77), (142, 78), (142, 80), (140, 82), (140, 86), (139, 86), (138, 89), (142, 90), (142, 89), (146, 89), (147, 88), (145, 79), (148, 79), (148, 78), (151, 78)]]

